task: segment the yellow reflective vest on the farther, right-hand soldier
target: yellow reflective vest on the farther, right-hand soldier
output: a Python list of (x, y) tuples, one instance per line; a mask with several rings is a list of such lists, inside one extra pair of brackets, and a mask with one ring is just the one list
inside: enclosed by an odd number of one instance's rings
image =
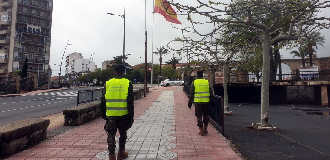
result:
[(195, 95), (194, 102), (210, 102), (209, 81), (204, 79), (194, 80)]

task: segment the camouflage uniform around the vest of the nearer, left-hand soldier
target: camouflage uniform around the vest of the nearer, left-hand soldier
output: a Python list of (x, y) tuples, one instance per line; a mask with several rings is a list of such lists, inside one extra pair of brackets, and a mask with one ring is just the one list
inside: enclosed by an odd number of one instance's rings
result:
[[(115, 78), (123, 78), (123, 76), (117, 75)], [(127, 93), (127, 108), (128, 114), (123, 116), (107, 116), (107, 105), (105, 102), (105, 93), (106, 89), (104, 89), (102, 98), (101, 98), (101, 111), (102, 111), (102, 118), (107, 119), (104, 125), (104, 130), (108, 132), (108, 150), (110, 155), (115, 154), (116, 148), (116, 132), (117, 128), (119, 131), (119, 149), (125, 148), (127, 134), (126, 131), (132, 127), (131, 119), (134, 117), (134, 96), (133, 96), (133, 85), (130, 82), (128, 86), (128, 93)]]

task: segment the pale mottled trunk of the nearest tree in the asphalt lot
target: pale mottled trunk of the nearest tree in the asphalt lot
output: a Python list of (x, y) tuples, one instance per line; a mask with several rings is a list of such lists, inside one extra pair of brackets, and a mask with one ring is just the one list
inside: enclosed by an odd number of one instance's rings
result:
[(262, 41), (262, 78), (261, 78), (261, 125), (269, 125), (269, 72), (270, 72), (269, 31), (264, 31)]

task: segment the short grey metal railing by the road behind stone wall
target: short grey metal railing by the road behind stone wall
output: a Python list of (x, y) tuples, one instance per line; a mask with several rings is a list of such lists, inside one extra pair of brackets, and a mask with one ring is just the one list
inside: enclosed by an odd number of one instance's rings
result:
[(77, 106), (86, 102), (93, 102), (95, 100), (101, 99), (103, 94), (103, 89), (91, 89), (78, 91)]

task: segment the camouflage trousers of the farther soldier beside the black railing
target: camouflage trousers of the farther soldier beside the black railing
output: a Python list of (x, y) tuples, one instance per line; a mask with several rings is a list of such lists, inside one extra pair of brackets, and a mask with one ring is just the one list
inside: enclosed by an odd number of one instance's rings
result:
[[(197, 117), (197, 126), (203, 127), (204, 124), (209, 124), (210, 104), (195, 103), (195, 116)], [(203, 116), (203, 120), (202, 120)]]

